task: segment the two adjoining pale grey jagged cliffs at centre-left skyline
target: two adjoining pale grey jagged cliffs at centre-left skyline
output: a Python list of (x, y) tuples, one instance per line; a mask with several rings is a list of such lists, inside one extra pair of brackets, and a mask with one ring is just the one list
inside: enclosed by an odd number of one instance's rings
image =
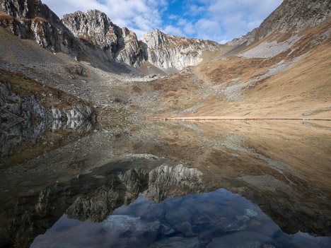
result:
[(166, 35), (156, 29), (137, 40), (127, 28), (119, 28), (100, 11), (76, 11), (61, 17), (75, 37), (89, 47), (99, 47), (108, 60), (116, 59), (140, 67), (146, 61), (164, 71), (178, 71), (202, 61), (205, 51), (219, 51), (221, 45), (209, 40)]

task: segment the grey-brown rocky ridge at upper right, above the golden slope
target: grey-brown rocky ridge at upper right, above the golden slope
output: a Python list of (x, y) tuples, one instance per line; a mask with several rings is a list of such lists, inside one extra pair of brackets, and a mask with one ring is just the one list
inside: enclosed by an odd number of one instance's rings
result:
[(330, 0), (284, 0), (260, 25), (239, 39), (233, 39), (226, 45), (250, 45), (267, 35), (279, 32), (293, 35), (308, 27), (322, 23), (331, 16)]

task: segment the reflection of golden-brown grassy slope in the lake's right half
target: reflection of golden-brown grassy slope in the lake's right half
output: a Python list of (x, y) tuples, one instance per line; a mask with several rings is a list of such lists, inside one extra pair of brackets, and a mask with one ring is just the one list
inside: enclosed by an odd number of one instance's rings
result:
[(160, 134), (160, 140), (167, 141), (163, 150), (181, 161), (190, 158), (188, 163), (204, 174), (209, 186), (214, 184), (257, 203), (287, 233), (331, 234), (330, 124), (159, 125), (168, 125)]

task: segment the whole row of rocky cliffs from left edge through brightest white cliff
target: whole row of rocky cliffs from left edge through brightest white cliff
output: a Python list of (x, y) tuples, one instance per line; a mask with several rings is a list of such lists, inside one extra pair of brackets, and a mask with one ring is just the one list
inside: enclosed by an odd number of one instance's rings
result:
[(0, 6), (4, 11), (1, 27), (35, 40), (50, 52), (64, 52), (92, 64), (119, 61), (139, 68), (149, 61), (172, 73), (199, 64), (205, 51), (221, 49), (216, 42), (166, 35), (158, 29), (138, 41), (135, 33), (118, 27), (97, 10), (59, 18), (40, 0), (0, 0)]

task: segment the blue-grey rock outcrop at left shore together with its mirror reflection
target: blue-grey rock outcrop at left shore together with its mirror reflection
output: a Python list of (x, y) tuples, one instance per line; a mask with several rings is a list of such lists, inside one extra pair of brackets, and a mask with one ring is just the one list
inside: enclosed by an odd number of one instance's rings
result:
[(16, 95), (10, 83), (0, 81), (0, 156), (11, 155), (22, 141), (36, 143), (47, 129), (88, 131), (91, 118), (93, 110), (87, 105), (47, 109), (35, 95)]

